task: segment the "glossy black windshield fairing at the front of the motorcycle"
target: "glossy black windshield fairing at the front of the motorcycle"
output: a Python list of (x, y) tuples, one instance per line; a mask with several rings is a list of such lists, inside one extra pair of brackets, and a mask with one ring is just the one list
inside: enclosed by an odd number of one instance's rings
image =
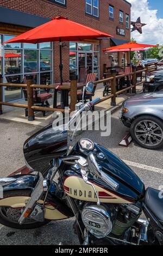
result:
[(67, 131), (46, 126), (27, 139), (23, 146), (28, 167), (43, 173), (54, 157), (64, 155), (67, 150)]

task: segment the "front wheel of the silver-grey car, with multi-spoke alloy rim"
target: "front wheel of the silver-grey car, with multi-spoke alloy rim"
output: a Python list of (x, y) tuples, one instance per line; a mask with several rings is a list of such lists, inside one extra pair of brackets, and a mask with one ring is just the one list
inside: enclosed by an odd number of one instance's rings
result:
[[(152, 127), (154, 124), (155, 126)], [(152, 128), (148, 131), (150, 127)], [(163, 121), (157, 117), (152, 115), (137, 117), (131, 124), (130, 132), (131, 137), (142, 148), (155, 150), (163, 147)]]

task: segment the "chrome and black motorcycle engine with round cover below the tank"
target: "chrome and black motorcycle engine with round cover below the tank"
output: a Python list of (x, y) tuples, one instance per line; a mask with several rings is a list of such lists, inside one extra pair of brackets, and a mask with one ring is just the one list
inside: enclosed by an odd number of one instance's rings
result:
[(141, 215), (141, 204), (91, 204), (82, 210), (82, 220), (87, 229), (98, 239), (108, 236), (121, 237)]

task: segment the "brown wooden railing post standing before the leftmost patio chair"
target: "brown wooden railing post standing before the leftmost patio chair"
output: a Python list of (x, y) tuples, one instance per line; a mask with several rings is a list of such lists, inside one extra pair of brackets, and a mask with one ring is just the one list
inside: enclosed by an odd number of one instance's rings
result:
[(34, 110), (31, 108), (34, 104), (33, 88), (30, 87), (30, 84), (32, 84), (32, 76), (26, 76), (26, 78), (27, 78), (28, 121), (33, 121), (35, 119)]

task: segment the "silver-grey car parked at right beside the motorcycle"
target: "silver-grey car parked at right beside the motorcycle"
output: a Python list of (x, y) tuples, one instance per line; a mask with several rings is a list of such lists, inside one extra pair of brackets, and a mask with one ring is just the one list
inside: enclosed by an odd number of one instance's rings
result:
[(130, 127), (131, 136), (141, 147), (163, 147), (163, 93), (130, 97), (123, 102), (122, 123)]

